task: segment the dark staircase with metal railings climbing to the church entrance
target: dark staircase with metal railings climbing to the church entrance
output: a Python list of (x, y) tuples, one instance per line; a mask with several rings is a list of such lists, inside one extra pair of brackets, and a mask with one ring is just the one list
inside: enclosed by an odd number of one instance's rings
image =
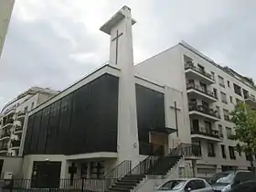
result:
[[(170, 171), (177, 165), (177, 163), (180, 163), (184, 156), (200, 155), (200, 153), (198, 153), (197, 146), (193, 146), (191, 144), (180, 144), (180, 146), (170, 150), (169, 155), (163, 155), (163, 151), (163, 147), (159, 147), (154, 153), (148, 155), (144, 161), (136, 165), (133, 169), (130, 169), (130, 171), (125, 170), (123, 172), (124, 174), (116, 178), (105, 191), (134, 191), (136, 190), (136, 187), (142, 187), (142, 185), (144, 185), (148, 176), (165, 177), (170, 174), (172, 175)], [(124, 165), (127, 167), (127, 164), (127, 162), (123, 162), (123, 164), (117, 166), (114, 171), (119, 173), (123, 169)], [(131, 167), (131, 163), (128, 164), (128, 167)], [(139, 191), (147, 190), (140, 189)]]

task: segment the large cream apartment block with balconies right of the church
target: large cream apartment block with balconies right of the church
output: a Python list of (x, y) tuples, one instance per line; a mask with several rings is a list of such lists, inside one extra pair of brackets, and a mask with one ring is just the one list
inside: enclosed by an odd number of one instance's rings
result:
[[(235, 150), (231, 141), (234, 124), (229, 112), (239, 102), (255, 106), (253, 81), (229, 67), (221, 67), (196, 48), (181, 42), (135, 66), (144, 77), (182, 87), (186, 95), (187, 120), (193, 144), (201, 148), (203, 158), (197, 161), (197, 176), (209, 177), (217, 171), (248, 169), (248, 155)], [(171, 82), (169, 77), (179, 78)], [(186, 112), (184, 112), (186, 114)]]

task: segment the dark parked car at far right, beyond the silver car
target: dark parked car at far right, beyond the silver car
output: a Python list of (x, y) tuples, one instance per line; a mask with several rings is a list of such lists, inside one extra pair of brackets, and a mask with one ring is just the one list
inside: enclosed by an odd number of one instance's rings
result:
[(229, 192), (240, 183), (253, 179), (255, 176), (251, 171), (225, 171), (212, 176), (209, 184), (215, 192)]

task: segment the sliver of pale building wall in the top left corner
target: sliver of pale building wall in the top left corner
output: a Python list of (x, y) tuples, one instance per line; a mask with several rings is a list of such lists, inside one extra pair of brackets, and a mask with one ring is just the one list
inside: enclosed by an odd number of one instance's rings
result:
[(0, 58), (3, 51), (7, 29), (10, 23), (15, 0), (0, 1)]

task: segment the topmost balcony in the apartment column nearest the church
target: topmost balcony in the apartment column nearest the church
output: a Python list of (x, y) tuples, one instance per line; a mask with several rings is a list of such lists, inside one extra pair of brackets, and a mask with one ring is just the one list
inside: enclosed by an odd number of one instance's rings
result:
[(197, 79), (205, 82), (206, 84), (215, 83), (215, 80), (212, 78), (210, 73), (206, 72), (204, 69), (194, 66), (192, 62), (187, 62), (185, 64), (185, 72), (189, 79)]

